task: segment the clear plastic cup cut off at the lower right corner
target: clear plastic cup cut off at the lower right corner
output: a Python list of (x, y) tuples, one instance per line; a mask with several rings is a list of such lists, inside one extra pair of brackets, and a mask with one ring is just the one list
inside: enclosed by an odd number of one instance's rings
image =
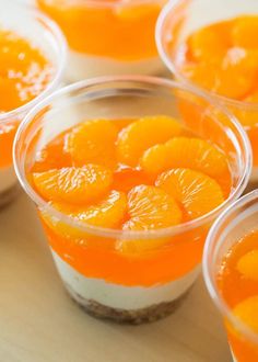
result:
[(225, 210), (212, 226), (203, 252), (208, 291), (225, 321), (235, 362), (258, 361), (258, 335), (233, 315), (218, 287), (218, 272), (228, 250), (242, 237), (258, 228), (258, 191), (245, 195)]

